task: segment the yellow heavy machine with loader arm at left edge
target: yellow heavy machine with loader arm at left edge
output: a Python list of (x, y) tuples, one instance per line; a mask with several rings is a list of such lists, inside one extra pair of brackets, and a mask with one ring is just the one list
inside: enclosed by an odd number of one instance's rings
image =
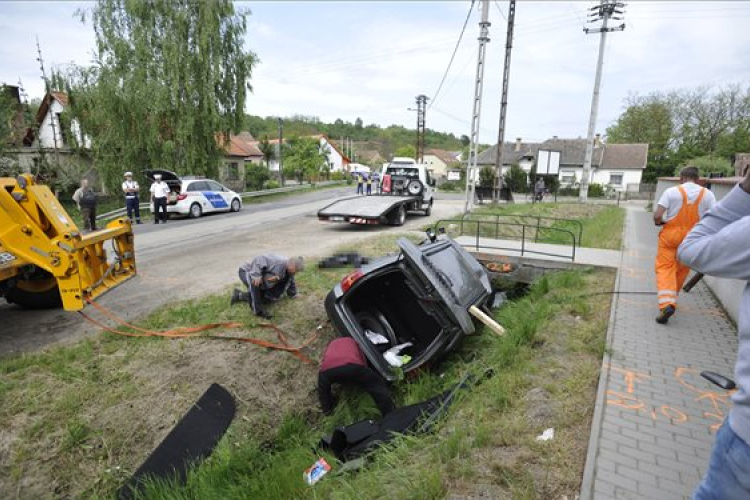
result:
[(30, 174), (0, 177), (0, 297), (28, 309), (78, 311), (135, 274), (127, 218), (82, 234), (49, 187)]

